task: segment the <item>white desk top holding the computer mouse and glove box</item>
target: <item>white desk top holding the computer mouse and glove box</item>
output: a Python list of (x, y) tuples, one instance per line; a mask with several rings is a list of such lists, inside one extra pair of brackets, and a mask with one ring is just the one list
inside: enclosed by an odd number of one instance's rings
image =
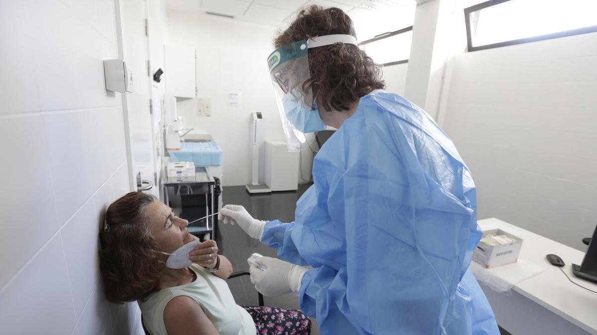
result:
[(480, 220), (478, 224), (484, 231), (500, 228), (522, 238), (524, 241), (518, 258), (545, 269), (516, 284), (513, 290), (589, 333), (597, 334), (597, 294), (570, 283), (562, 271), (545, 258), (550, 253), (560, 256), (566, 263), (563, 269), (571, 280), (597, 291), (597, 284), (572, 273), (572, 263), (580, 265), (583, 252), (495, 218)]

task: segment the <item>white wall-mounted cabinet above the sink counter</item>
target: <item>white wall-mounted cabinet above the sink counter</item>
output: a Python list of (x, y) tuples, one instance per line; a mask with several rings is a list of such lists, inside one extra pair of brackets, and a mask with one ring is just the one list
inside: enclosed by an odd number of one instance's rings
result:
[(196, 97), (196, 54), (192, 46), (166, 45), (164, 75), (166, 94), (180, 98)]

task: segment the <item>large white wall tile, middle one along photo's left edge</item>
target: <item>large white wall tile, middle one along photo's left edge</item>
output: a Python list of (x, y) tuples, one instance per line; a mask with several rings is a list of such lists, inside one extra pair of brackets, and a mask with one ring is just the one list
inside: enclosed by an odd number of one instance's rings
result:
[[(6, 176), (0, 192), (0, 212), (4, 213), (0, 220), (1, 288), (38, 252), (60, 224), (42, 117), (38, 114), (2, 117), (0, 147), (5, 157), (0, 173)], [(23, 248), (23, 244), (27, 247)]]

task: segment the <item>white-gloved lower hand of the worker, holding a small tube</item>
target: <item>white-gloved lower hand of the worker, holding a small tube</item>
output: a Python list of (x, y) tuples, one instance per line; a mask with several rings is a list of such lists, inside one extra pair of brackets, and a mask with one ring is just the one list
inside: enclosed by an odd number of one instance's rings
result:
[[(266, 270), (263, 271), (260, 267)], [(281, 259), (260, 257), (255, 260), (249, 271), (255, 289), (264, 296), (273, 297), (298, 292), (303, 275), (308, 269)]]

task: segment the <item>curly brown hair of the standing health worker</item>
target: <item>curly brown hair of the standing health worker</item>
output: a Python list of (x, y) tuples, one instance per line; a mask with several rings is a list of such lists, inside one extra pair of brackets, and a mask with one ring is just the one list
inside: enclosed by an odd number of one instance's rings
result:
[[(275, 48), (316, 36), (344, 34), (356, 38), (350, 17), (340, 8), (311, 5), (273, 41)], [(353, 44), (336, 43), (309, 49), (310, 79), (302, 89), (325, 110), (348, 110), (349, 104), (374, 89), (383, 89), (381, 66)]]

